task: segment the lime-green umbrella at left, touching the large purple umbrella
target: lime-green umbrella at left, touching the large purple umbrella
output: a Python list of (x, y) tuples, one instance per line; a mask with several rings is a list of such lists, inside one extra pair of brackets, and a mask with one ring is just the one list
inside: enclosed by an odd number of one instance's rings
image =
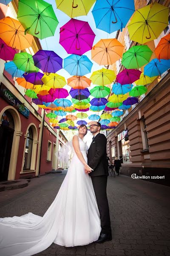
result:
[(37, 73), (39, 70), (38, 67), (34, 66), (32, 55), (27, 52), (16, 53), (13, 62), (19, 70), (25, 71), (25, 75), (26, 73)]

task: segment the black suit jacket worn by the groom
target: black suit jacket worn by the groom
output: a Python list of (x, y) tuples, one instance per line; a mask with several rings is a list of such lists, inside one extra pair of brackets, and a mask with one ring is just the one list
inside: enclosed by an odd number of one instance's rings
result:
[(107, 139), (104, 134), (97, 134), (88, 149), (88, 165), (94, 169), (89, 175), (91, 177), (109, 175), (108, 159), (106, 152)]

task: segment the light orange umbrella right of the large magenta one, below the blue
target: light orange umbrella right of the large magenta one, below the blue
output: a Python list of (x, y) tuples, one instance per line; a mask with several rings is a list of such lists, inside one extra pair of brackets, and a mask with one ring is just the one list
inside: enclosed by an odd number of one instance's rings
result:
[(101, 39), (91, 49), (91, 58), (99, 65), (111, 65), (122, 58), (124, 46), (116, 39)]

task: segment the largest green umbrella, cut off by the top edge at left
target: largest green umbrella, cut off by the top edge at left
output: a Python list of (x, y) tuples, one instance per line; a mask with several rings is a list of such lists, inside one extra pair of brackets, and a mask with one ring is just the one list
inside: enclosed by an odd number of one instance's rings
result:
[(19, 0), (17, 19), (25, 33), (40, 39), (53, 36), (59, 23), (52, 5), (43, 0)]

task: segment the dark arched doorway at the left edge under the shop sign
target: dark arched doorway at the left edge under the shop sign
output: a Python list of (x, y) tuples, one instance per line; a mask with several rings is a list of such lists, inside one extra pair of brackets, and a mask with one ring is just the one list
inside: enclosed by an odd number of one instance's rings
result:
[(0, 119), (0, 180), (8, 180), (11, 149), (14, 137), (14, 119), (5, 111)]

